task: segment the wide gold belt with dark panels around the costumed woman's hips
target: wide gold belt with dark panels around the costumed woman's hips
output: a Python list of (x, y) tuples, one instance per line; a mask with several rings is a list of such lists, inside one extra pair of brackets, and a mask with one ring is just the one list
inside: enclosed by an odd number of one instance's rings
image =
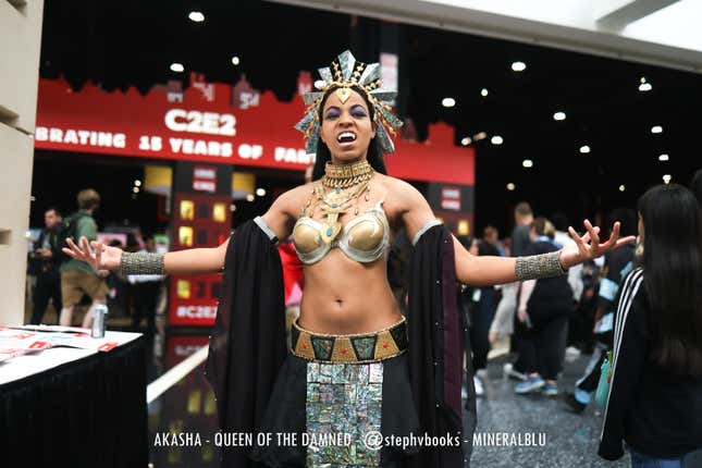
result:
[(373, 333), (330, 335), (303, 329), (293, 322), (291, 352), (318, 362), (375, 362), (407, 350), (407, 323), (397, 323)]

